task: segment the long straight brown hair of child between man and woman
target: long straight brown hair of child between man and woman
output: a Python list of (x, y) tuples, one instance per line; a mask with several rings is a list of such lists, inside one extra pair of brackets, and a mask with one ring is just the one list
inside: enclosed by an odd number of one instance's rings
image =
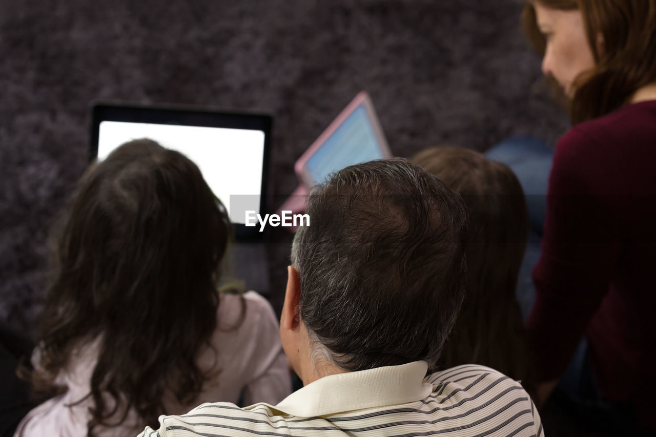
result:
[(506, 165), (461, 147), (429, 148), (412, 161), (459, 193), (470, 215), (467, 294), (441, 364), (487, 365), (527, 387), (527, 344), (515, 297), (529, 230), (520, 182)]

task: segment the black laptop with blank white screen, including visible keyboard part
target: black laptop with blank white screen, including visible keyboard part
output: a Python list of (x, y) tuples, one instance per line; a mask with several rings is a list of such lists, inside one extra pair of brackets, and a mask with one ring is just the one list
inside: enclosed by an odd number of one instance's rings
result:
[(246, 289), (270, 291), (264, 234), (245, 226), (245, 211), (266, 205), (272, 117), (197, 108), (125, 102), (93, 102), (91, 159), (106, 158), (121, 144), (150, 138), (181, 152), (230, 215), (236, 242), (228, 252), (224, 281), (241, 280)]

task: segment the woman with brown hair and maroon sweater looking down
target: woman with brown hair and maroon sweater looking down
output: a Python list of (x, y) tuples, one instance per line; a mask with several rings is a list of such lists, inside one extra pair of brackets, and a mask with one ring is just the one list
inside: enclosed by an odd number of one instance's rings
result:
[(573, 369), (580, 399), (656, 430), (656, 0), (530, 0), (522, 21), (573, 121), (533, 270), (539, 400)]

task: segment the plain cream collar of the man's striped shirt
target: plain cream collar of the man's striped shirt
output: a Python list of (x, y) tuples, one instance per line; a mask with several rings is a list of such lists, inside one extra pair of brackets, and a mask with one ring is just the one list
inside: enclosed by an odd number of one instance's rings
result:
[(316, 417), (415, 402), (432, 392), (432, 385), (423, 382), (426, 369), (425, 361), (416, 361), (329, 375), (290, 394), (275, 408), (298, 417)]

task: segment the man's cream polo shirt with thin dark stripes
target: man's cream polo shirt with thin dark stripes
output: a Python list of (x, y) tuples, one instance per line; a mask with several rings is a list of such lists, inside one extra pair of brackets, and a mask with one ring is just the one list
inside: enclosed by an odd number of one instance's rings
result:
[(323, 377), (270, 406), (203, 404), (161, 416), (142, 437), (538, 436), (540, 417), (522, 386), (480, 365), (426, 375), (426, 362)]

